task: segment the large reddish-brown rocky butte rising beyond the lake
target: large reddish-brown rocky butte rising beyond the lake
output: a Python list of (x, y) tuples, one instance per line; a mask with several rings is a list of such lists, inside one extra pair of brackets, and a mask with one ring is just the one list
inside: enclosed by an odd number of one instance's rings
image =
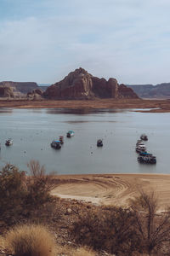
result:
[(69, 73), (65, 79), (52, 84), (43, 93), (49, 99), (83, 100), (94, 98), (139, 98), (137, 94), (116, 79), (99, 79), (82, 67)]

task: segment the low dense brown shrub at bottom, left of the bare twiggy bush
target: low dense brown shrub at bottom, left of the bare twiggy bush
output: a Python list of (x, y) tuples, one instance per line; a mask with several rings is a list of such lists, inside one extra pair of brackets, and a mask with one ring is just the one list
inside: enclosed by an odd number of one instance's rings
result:
[(99, 207), (79, 216), (71, 235), (78, 244), (116, 255), (132, 255), (138, 244), (133, 213), (121, 207)]

